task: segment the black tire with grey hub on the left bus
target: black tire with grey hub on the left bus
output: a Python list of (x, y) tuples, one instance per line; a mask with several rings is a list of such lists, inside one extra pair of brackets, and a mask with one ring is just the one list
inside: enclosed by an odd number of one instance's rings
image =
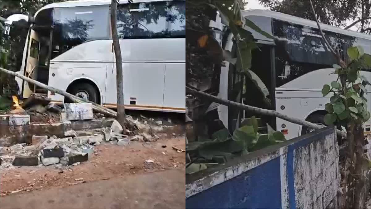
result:
[(99, 92), (90, 83), (78, 83), (70, 87), (69, 93), (99, 104)]

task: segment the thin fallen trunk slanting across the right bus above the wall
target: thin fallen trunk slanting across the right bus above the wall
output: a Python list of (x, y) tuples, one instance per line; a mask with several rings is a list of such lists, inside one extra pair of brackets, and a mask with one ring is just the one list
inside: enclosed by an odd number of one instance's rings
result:
[[(277, 117), (277, 118), (280, 118), (280, 119), (283, 119), (283, 120), (287, 120), (287, 121), (295, 123), (295, 124), (307, 126), (309, 128), (313, 128), (313, 129), (320, 129), (320, 128), (326, 127), (326, 126), (317, 125), (315, 123), (308, 122), (306, 120), (302, 120), (302, 119), (298, 119), (298, 118), (292, 118), (290, 116), (283, 115), (282, 113), (276, 112), (275, 110), (262, 109), (262, 108), (259, 108), (259, 107), (244, 105), (244, 104), (241, 104), (241, 103), (238, 103), (238, 102), (233, 102), (233, 101), (230, 101), (230, 100), (220, 99), (219, 97), (213, 96), (211, 94), (208, 94), (208, 93), (205, 93), (205, 92), (202, 92), (202, 91), (197, 91), (197, 90), (191, 89), (187, 86), (185, 87), (185, 90), (187, 91), (187, 93), (194, 94), (194, 95), (197, 95), (197, 96), (200, 96), (200, 97), (204, 97), (206, 99), (209, 99), (212, 102), (216, 102), (216, 103), (219, 103), (221, 105), (233, 106), (233, 107), (236, 107), (236, 108), (241, 109), (241, 110), (248, 110), (250, 112), (258, 113), (258, 114), (262, 114), (262, 115), (266, 115), (266, 116), (274, 116), (274, 117)], [(336, 133), (346, 137), (345, 133), (340, 131), (340, 130), (337, 130)]]

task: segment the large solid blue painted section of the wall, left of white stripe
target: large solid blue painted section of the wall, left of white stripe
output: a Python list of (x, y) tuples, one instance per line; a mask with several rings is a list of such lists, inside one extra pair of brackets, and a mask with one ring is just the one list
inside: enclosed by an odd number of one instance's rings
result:
[(186, 208), (281, 208), (280, 158), (186, 200)]

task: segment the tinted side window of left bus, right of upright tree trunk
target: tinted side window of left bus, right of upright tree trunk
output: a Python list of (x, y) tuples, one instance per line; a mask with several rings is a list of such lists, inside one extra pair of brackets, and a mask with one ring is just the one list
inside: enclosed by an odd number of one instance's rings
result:
[(121, 4), (117, 30), (121, 39), (185, 36), (184, 1)]

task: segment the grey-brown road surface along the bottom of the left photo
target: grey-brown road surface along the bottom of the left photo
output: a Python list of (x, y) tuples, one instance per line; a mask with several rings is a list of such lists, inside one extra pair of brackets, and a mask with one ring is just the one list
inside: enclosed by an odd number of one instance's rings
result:
[(1, 197), (1, 208), (185, 208), (184, 169)]

